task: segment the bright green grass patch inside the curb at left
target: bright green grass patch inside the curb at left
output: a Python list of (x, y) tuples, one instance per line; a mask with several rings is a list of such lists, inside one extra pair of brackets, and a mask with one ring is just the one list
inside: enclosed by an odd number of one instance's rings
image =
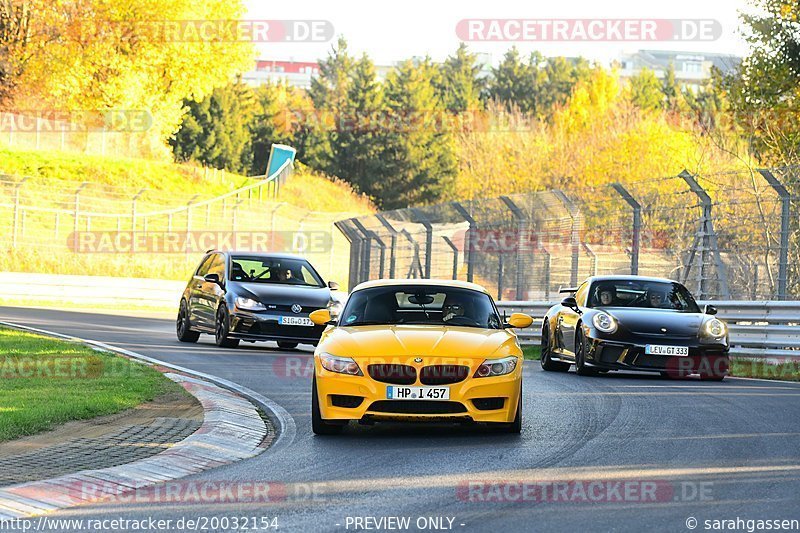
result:
[(124, 411), (172, 391), (182, 388), (147, 365), (0, 328), (0, 442)]

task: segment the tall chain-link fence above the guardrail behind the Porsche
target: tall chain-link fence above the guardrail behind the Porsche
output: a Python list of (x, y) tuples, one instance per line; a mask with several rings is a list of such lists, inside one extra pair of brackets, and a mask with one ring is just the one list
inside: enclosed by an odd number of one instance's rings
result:
[[(551, 300), (591, 275), (685, 283), (700, 299), (798, 299), (798, 169), (691, 174), (399, 209), (336, 223), (350, 287), (474, 281)], [(794, 192), (792, 192), (794, 191)]]

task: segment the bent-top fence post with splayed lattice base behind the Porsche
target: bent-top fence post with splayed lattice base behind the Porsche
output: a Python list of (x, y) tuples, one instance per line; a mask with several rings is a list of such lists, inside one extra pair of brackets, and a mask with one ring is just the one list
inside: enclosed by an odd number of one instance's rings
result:
[(700, 205), (703, 209), (702, 218), (700, 219), (700, 227), (695, 234), (694, 245), (687, 261), (686, 272), (683, 276), (684, 283), (689, 278), (689, 273), (694, 262), (696, 250), (700, 248), (700, 268), (699, 268), (699, 299), (708, 299), (708, 274), (707, 274), (707, 258), (709, 252), (714, 256), (714, 262), (717, 266), (717, 277), (720, 284), (720, 293), (724, 299), (730, 299), (730, 292), (728, 291), (728, 277), (725, 272), (725, 265), (722, 263), (722, 257), (719, 254), (719, 243), (717, 242), (717, 233), (714, 231), (714, 221), (711, 218), (711, 197), (708, 193), (697, 183), (688, 170), (681, 171), (678, 177), (683, 179), (689, 185), (689, 189), (700, 200)]

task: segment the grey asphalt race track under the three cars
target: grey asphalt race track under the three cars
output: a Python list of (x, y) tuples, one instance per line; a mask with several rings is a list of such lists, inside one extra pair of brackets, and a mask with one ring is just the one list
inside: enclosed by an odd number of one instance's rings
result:
[[(427, 518), (444, 517), (440, 527), (453, 519), (453, 530), (491, 532), (689, 531), (690, 517), (702, 531), (705, 520), (800, 518), (800, 384), (634, 374), (581, 378), (545, 373), (528, 361), (520, 436), (376, 425), (314, 437), (309, 347), (287, 352), (272, 343), (243, 343), (225, 350), (208, 336), (186, 345), (175, 338), (172, 321), (102, 314), (0, 308), (0, 319), (107, 342), (231, 380), (277, 402), (296, 424), (287, 446), (188, 478), (275, 482), (285, 494), (276, 503), (114, 502), (51, 516), (264, 516), (277, 517), (279, 531), (378, 527), (356, 517), (409, 517), (416, 530), (418, 519), (431, 528), (437, 522)], [(488, 480), (494, 484), (480, 488)], [(515, 483), (503, 484), (507, 480)], [(627, 496), (622, 490), (621, 497), (616, 489), (591, 492), (620, 480), (632, 481), (634, 489), (655, 486), (656, 497), (639, 498), (636, 490)], [(561, 496), (542, 497), (535, 491), (521, 496), (518, 481), (574, 483), (561, 483), (569, 491)], [(576, 497), (577, 489), (590, 496)], [(493, 501), (472, 501), (481, 497)]]

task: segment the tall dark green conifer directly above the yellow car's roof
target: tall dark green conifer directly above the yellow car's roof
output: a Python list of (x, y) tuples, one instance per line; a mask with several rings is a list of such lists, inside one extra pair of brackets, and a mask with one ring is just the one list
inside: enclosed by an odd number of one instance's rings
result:
[(386, 140), (387, 177), (375, 184), (384, 209), (434, 203), (453, 183), (454, 140), (438, 120), (444, 107), (433, 87), (435, 72), (426, 58), (404, 61), (388, 76), (386, 104), (398, 127)]

